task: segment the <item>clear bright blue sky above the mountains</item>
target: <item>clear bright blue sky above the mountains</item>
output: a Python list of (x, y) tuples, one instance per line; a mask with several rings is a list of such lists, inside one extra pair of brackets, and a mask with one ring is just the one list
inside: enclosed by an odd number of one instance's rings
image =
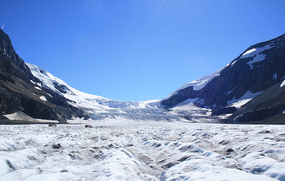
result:
[(162, 99), (285, 33), (285, 1), (0, 0), (18, 55), (82, 92)]

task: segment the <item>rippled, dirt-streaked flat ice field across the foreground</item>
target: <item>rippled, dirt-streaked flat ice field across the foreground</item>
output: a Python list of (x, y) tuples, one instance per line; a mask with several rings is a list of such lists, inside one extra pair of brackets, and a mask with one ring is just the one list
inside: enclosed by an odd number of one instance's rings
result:
[(0, 180), (285, 180), (285, 125), (92, 126), (0, 125)]

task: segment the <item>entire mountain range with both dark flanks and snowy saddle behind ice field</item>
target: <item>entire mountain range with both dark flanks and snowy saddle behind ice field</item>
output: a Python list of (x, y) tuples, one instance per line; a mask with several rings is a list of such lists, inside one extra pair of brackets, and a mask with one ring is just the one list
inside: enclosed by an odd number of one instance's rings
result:
[[(25, 63), (0, 30), (0, 122), (184, 121), (285, 124), (285, 34), (162, 100), (116, 101), (83, 93)], [(53, 120), (53, 121), (51, 121)], [(10, 121), (10, 122), (9, 122)]]

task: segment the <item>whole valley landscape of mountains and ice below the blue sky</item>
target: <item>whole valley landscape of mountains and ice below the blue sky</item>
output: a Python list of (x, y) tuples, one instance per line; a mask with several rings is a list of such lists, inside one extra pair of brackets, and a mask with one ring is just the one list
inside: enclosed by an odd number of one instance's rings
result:
[(285, 181), (284, 40), (130, 102), (25, 63), (0, 29), (0, 180)]

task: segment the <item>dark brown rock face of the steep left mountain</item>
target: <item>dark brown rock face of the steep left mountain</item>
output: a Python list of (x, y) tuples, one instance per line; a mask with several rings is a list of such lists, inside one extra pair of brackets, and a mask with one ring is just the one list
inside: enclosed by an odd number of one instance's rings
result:
[(0, 29), (0, 113), (22, 111), (30, 117), (66, 123), (82, 117), (65, 97), (41, 86), (41, 81), (16, 54), (9, 36)]

